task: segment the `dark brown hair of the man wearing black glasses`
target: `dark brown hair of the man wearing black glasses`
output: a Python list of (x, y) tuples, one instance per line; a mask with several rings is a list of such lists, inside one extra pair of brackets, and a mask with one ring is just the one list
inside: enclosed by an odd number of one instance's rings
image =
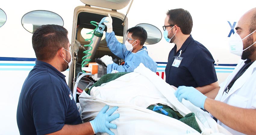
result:
[(169, 16), (169, 24), (177, 25), (180, 27), (181, 32), (185, 35), (189, 35), (192, 31), (193, 20), (189, 11), (182, 8), (168, 10), (166, 13)]

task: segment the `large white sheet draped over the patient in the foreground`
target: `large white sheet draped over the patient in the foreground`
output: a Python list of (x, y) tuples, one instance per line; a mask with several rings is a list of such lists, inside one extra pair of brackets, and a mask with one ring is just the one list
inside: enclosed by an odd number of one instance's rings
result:
[(169, 84), (141, 63), (134, 72), (93, 87), (91, 95), (83, 92), (79, 97), (81, 118), (83, 122), (89, 122), (107, 104), (119, 107), (115, 113), (119, 113), (120, 118), (111, 122), (117, 125), (117, 129), (111, 129), (115, 135), (200, 134), (177, 119), (146, 109), (152, 104), (160, 103), (183, 116), (195, 113), (201, 134), (230, 134), (217, 125), (208, 113), (189, 101), (183, 99), (183, 103), (180, 103), (174, 92)]

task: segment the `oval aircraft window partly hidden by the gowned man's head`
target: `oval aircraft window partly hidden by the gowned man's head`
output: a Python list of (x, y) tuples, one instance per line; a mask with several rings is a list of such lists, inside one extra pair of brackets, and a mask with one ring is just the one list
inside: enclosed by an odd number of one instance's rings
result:
[(148, 38), (145, 44), (156, 44), (161, 40), (162, 32), (156, 26), (147, 23), (137, 24), (136, 26), (141, 26), (147, 31)]

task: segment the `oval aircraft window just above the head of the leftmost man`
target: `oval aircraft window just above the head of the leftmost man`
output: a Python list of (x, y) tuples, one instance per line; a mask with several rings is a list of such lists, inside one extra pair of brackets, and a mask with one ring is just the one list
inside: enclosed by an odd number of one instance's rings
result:
[(57, 13), (46, 10), (35, 10), (26, 13), (22, 19), (21, 24), (28, 32), (33, 33), (39, 26), (46, 24), (56, 24), (63, 26), (64, 22), (61, 16)]

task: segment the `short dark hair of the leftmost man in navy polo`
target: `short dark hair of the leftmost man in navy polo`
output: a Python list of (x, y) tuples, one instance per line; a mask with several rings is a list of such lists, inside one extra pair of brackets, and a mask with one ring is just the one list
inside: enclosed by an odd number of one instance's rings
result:
[(32, 36), (36, 58), (41, 61), (51, 60), (62, 47), (67, 49), (68, 42), (67, 30), (59, 25), (42, 25)]

